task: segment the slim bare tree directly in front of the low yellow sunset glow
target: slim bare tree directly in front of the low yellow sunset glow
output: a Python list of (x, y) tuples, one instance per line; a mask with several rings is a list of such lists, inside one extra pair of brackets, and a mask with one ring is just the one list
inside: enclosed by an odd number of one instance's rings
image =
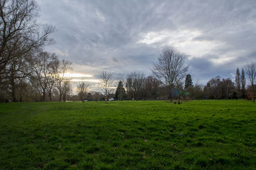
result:
[(56, 80), (56, 87), (59, 92), (59, 101), (61, 101), (63, 97), (63, 93), (65, 90), (65, 81), (68, 81), (67, 78), (65, 78), (65, 73), (67, 73), (68, 70), (72, 69), (71, 62), (68, 60), (61, 60), (61, 62), (58, 62), (56, 73), (55, 73), (55, 80)]

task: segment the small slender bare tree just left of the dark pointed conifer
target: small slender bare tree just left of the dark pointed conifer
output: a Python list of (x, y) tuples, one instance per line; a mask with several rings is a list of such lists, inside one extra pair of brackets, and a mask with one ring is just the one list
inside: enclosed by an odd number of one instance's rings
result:
[(100, 89), (102, 90), (104, 96), (106, 97), (106, 103), (108, 103), (108, 98), (109, 98), (109, 94), (111, 94), (111, 92), (113, 92), (113, 83), (114, 83), (114, 77), (113, 77), (113, 73), (109, 72), (109, 71), (101, 71), (99, 73), (99, 78), (100, 78)]

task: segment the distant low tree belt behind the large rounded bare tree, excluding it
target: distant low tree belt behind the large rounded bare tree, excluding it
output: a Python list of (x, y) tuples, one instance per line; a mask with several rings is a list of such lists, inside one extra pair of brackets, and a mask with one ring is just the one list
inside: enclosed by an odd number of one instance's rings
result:
[[(254, 64), (247, 64), (239, 72), (237, 68), (236, 81), (230, 78), (221, 78), (216, 76), (207, 81), (206, 85), (201, 83), (193, 83), (191, 74), (186, 74), (186, 78), (180, 79), (175, 85), (172, 83), (164, 84), (156, 76), (145, 76), (141, 73), (130, 73), (126, 79), (117, 81), (116, 89), (110, 89), (103, 92), (106, 101), (113, 97), (122, 101), (129, 100), (167, 100), (173, 99), (255, 99), (255, 81), (249, 78), (249, 73)], [(172, 71), (170, 71), (172, 73)], [(251, 84), (246, 86), (246, 75), (248, 82)], [(108, 72), (107, 74), (113, 74)], [(255, 74), (255, 73), (254, 73)], [(255, 76), (254, 76), (255, 80)], [(184, 82), (183, 82), (184, 81)]]

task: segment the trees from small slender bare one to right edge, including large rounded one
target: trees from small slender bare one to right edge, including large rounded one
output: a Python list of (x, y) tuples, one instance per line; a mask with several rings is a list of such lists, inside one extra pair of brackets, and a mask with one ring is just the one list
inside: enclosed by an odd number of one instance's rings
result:
[[(172, 47), (163, 48), (158, 62), (152, 68), (152, 76), (130, 73), (117, 78), (116, 90), (113, 86), (113, 73), (102, 71), (99, 75), (102, 94), (106, 102), (110, 97), (119, 99), (252, 99), (255, 100), (256, 64), (246, 64), (240, 73), (236, 70), (236, 80), (216, 76), (206, 85), (193, 84), (186, 56)], [(246, 78), (250, 84), (246, 86)], [(108, 87), (108, 88), (106, 88)], [(115, 93), (114, 93), (115, 90)]]

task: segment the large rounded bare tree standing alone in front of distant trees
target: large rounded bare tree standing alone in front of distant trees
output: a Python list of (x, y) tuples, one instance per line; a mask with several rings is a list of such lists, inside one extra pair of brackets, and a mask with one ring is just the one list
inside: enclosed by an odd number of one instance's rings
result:
[(163, 48), (158, 57), (158, 62), (154, 64), (153, 74), (161, 80), (169, 89), (169, 97), (173, 99), (173, 89), (180, 87), (182, 80), (188, 72), (185, 66), (185, 55), (177, 52), (172, 47)]

